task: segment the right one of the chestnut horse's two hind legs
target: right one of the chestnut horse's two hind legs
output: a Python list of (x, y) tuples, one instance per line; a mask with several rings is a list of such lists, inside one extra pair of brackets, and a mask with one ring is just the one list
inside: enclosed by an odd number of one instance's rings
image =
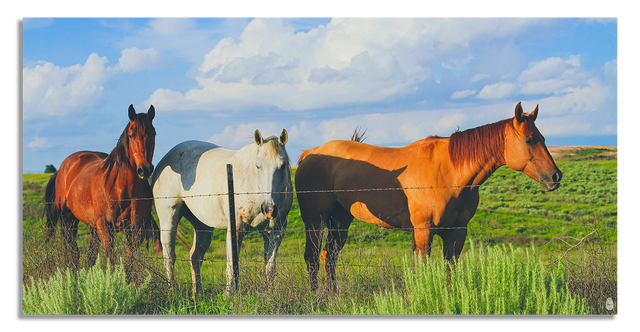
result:
[(329, 233), (327, 243), (322, 251), (322, 259), (325, 277), (329, 288), (336, 290), (336, 264), (338, 254), (347, 241), (349, 226), (353, 221), (353, 216), (342, 205), (336, 204), (328, 218)]

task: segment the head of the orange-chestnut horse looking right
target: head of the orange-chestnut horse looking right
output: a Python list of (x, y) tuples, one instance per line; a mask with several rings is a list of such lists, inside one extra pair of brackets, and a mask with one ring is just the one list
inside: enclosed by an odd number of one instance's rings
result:
[(538, 106), (526, 114), (520, 103), (516, 105), (512, 126), (505, 127), (506, 164), (514, 170), (523, 172), (542, 186), (544, 191), (553, 191), (560, 187), (562, 172), (558, 169), (544, 137), (534, 124), (538, 116)]

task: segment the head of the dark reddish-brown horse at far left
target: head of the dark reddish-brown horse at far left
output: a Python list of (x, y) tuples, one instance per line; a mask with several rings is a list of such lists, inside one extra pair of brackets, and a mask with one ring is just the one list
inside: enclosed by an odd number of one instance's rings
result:
[(153, 150), (156, 146), (156, 129), (151, 121), (156, 110), (151, 105), (146, 114), (138, 113), (129, 106), (129, 126), (127, 137), (129, 140), (129, 156), (132, 166), (136, 169), (140, 179), (146, 180), (153, 173)]

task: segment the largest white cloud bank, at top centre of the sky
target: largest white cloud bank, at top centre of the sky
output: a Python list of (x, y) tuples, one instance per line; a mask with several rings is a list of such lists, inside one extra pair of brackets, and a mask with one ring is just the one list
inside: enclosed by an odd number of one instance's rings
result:
[(514, 36), (554, 20), (334, 16), (326, 25), (296, 32), (282, 17), (256, 16), (238, 39), (224, 38), (205, 54), (190, 73), (197, 88), (180, 95), (158, 89), (146, 102), (163, 110), (189, 104), (220, 111), (264, 104), (305, 110), (383, 101), (413, 93), (419, 83), (435, 79), (430, 65), (464, 71), (474, 56), (459, 52), (473, 40)]

